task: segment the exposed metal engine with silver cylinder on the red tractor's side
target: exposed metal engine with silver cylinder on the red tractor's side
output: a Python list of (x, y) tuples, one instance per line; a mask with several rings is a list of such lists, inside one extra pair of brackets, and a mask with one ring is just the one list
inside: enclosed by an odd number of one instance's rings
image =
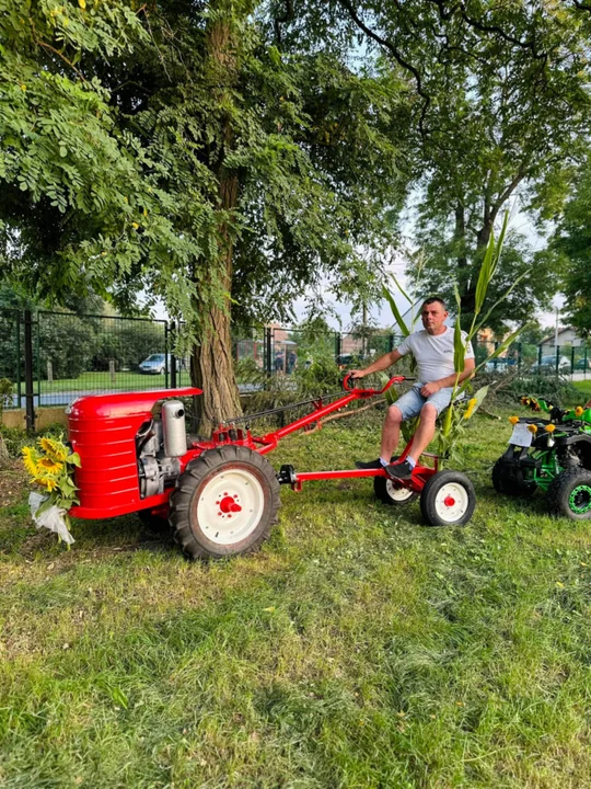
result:
[(140, 496), (163, 493), (181, 473), (179, 458), (187, 453), (185, 408), (179, 400), (162, 404), (160, 418), (144, 422), (136, 436)]

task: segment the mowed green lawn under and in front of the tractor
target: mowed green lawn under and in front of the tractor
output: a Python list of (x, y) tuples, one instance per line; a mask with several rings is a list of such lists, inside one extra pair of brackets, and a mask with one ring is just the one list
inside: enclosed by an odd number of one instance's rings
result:
[[(269, 460), (349, 468), (379, 424)], [(282, 488), (262, 552), (209, 564), (132, 516), (77, 522), (66, 551), (7, 472), (0, 785), (589, 787), (591, 524), (495, 494), (509, 434), (474, 420), (464, 528), (316, 482)]]

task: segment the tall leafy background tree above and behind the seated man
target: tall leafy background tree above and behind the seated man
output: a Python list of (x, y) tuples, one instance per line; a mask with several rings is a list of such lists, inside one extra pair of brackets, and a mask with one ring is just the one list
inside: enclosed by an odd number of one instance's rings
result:
[[(331, 0), (321, 10), (286, 3), (285, 24), (300, 44), (311, 19), (337, 44), (357, 30), (366, 52), (406, 75), (416, 239), (429, 256), (420, 286), (453, 298), (457, 283), (464, 313), (474, 309), (499, 215), (519, 195), (524, 209), (546, 216), (567, 194), (590, 121), (589, 8), (544, 0)], [(499, 328), (556, 289), (552, 258), (528, 274), (531, 259), (524, 239), (510, 236), (498, 284), (524, 277), (493, 315)]]

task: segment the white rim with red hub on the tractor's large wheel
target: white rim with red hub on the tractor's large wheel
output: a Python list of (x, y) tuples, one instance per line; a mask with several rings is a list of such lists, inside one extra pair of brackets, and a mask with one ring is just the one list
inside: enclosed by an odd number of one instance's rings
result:
[(230, 546), (256, 529), (264, 510), (265, 492), (257, 478), (245, 469), (228, 469), (200, 491), (197, 523), (211, 542)]

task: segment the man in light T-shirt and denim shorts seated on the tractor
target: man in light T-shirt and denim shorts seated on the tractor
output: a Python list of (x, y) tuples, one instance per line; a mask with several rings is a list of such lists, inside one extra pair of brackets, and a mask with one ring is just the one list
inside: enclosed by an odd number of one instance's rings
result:
[[(366, 369), (351, 370), (354, 378), (363, 378), (395, 364), (407, 353), (417, 362), (418, 381), (387, 410), (382, 431), (380, 457), (369, 462), (357, 461), (357, 468), (374, 469), (384, 467), (393, 479), (408, 479), (421, 453), (429, 446), (436, 431), (436, 420), (450, 404), (457, 374), (453, 365), (453, 329), (445, 325), (449, 312), (443, 299), (433, 296), (421, 307), (420, 317), (425, 329), (407, 336), (397, 348), (384, 354)], [(464, 339), (465, 335), (463, 334)], [(465, 352), (464, 369), (459, 382), (474, 375), (474, 351), (468, 344)], [(391, 462), (398, 445), (401, 423), (420, 414), (413, 447), (403, 462)]]

